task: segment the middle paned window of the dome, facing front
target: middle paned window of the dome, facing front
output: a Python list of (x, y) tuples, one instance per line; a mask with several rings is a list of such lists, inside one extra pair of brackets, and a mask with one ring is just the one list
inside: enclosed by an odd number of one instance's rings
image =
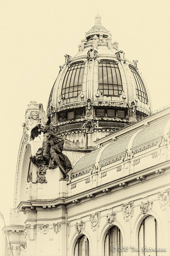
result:
[(122, 93), (121, 74), (116, 62), (99, 62), (99, 90), (109, 96), (119, 96)]

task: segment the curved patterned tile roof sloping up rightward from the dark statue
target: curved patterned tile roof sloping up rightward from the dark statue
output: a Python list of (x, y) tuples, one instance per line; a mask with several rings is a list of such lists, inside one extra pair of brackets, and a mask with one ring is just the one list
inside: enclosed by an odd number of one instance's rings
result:
[[(93, 170), (94, 164), (97, 164), (97, 161), (99, 166), (103, 167), (119, 160), (123, 160), (122, 158), (125, 158), (126, 150), (130, 148), (131, 143), (132, 147), (131, 151), (128, 152), (128, 155), (132, 155), (158, 145), (158, 143), (162, 142), (162, 136), (167, 135), (165, 134), (166, 124), (169, 120), (170, 119), (167, 118), (148, 127), (144, 126), (144, 128), (136, 134), (133, 141), (131, 140), (133, 134), (130, 134), (129, 136), (121, 138), (115, 142), (111, 142), (107, 146), (83, 156), (73, 167), (71, 178), (76, 178), (89, 173)], [(136, 132), (136, 130), (134, 130), (134, 132)], [(150, 138), (152, 138), (152, 140), (150, 140)]]

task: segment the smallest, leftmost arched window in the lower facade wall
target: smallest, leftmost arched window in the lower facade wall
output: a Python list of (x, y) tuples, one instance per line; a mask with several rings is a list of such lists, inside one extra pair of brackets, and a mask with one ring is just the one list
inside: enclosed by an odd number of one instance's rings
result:
[(75, 244), (74, 256), (87, 256), (90, 255), (89, 252), (89, 240), (87, 236), (80, 236)]

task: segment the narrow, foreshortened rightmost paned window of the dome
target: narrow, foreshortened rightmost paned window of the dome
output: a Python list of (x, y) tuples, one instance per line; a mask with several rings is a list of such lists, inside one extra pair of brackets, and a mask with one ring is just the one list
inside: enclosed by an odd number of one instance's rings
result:
[(130, 65), (129, 65), (129, 68), (133, 74), (137, 97), (139, 98), (140, 101), (144, 102), (145, 104), (148, 104), (148, 96), (147, 96), (146, 89), (144, 87), (144, 83), (143, 83), (141, 77), (139, 76), (138, 72), (136, 71), (136, 68), (134, 68), (133, 66), (130, 66)]

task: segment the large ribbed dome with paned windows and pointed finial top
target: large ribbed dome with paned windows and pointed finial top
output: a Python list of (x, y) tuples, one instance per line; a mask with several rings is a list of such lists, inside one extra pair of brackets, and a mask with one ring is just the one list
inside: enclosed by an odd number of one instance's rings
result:
[(93, 141), (150, 115), (150, 94), (137, 67), (95, 17), (73, 58), (65, 63), (51, 90), (47, 115), (63, 138), (83, 149)]

